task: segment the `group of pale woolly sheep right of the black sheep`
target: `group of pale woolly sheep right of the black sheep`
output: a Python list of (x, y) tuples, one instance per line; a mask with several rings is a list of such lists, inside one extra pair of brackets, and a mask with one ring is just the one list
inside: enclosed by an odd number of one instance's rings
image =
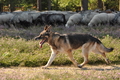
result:
[(66, 23), (66, 27), (71, 27), (77, 24), (91, 26), (98, 25), (120, 25), (120, 12), (102, 12), (99, 10), (94, 11), (82, 11), (70, 16), (69, 20)]

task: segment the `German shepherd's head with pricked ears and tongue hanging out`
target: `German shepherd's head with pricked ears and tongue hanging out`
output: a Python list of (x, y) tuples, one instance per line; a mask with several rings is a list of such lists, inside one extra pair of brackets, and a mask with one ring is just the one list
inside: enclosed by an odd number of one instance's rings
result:
[(41, 40), (39, 43), (40, 48), (42, 48), (42, 45), (45, 42), (48, 42), (48, 38), (50, 36), (50, 28), (51, 28), (51, 26), (45, 26), (44, 30), (40, 33), (40, 35), (35, 37), (35, 40)]

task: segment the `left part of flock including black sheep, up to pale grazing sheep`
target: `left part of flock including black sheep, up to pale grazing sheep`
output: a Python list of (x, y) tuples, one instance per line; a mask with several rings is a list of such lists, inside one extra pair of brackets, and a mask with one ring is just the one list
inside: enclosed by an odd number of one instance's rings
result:
[(15, 11), (1, 12), (0, 25), (24, 27), (32, 25), (65, 25), (69, 17), (76, 12), (69, 11)]

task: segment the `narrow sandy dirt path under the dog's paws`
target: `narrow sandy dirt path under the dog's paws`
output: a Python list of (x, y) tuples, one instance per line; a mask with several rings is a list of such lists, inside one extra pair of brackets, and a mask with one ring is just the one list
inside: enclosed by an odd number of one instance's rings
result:
[(9, 67), (9, 68), (0, 68), (0, 74), (5, 72), (21, 72), (28, 73), (32, 71), (45, 71), (45, 70), (120, 70), (120, 65), (85, 65), (83, 68), (77, 68), (74, 66), (50, 66), (48, 69), (42, 69), (41, 67)]

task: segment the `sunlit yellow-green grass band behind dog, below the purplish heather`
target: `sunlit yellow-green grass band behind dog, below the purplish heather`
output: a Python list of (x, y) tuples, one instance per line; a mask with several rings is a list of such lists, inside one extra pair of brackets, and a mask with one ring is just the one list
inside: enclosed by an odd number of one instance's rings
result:
[[(101, 39), (107, 47), (114, 47), (114, 51), (106, 53), (112, 64), (120, 63), (120, 39), (105, 36)], [(11, 37), (0, 38), (0, 66), (29, 66), (36, 67), (45, 65), (50, 57), (51, 51), (47, 44), (39, 48), (39, 41), (14, 39)], [(81, 50), (76, 50), (73, 55), (75, 59), (82, 63)], [(66, 54), (59, 54), (52, 65), (71, 65)], [(89, 64), (105, 64), (102, 56), (91, 53)]]

